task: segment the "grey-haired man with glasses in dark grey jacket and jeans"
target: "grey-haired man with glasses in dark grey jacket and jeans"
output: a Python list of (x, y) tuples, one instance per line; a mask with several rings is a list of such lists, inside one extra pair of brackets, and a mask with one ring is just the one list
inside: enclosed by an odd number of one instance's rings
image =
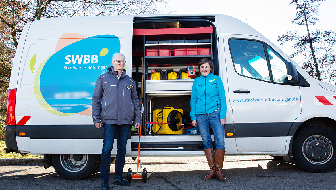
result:
[(140, 127), (141, 114), (135, 82), (126, 75), (125, 56), (115, 53), (113, 66), (106, 74), (98, 77), (92, 97), (92, 117), (97, 128), (103, 123), (104, 140), (100, 162), (100, 189), (109, 189), (111, 151), (117, 135), (117, 156), (115, 162), (114, 184), (129, 186), (122, 178), (125, 165), (126, 142), (130, 125), (135, 119), (135, 128)]

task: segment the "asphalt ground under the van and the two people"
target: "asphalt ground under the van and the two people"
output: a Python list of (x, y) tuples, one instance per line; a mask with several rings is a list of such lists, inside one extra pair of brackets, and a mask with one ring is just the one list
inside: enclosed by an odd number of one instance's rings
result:
[[(114, 164), (111, 164), (110, 189), (199, 190), (199, 189), (335, 189), (336, 170), (310, 173), (294, 161), (289, 163), (270, 156), (227, 156), (223, 164), (226, 183), (215, 179), (203, 181), (209, 172), (205, 157), (142, 157), (142, 167), (152, 175), (146, 183), (132, 180), (131, 186), (114, 185)], [(128, 168), (136, 170), (136, 161), (126, 158)], [(0, 189), (95, 189), (99, 190), (99, 173), (80, 181), (67, 181), (53, 167), (43, 165), (0, 166)]]

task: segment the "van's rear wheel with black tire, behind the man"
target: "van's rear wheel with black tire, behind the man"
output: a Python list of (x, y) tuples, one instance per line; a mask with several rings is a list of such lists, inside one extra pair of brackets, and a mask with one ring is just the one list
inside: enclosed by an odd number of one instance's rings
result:
[(55, 171), (67, 180), (82, 180), (90, 176), (98, 165), (97, 154), (53, 154)]

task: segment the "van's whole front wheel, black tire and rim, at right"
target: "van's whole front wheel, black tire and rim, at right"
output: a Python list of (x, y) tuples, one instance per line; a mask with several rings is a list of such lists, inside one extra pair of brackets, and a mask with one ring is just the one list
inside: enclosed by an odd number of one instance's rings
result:
[(294, 135), (293, 157), (309, 172), (328, 172), (336, 167), (336, 134), (323, 126), (309, 126)]

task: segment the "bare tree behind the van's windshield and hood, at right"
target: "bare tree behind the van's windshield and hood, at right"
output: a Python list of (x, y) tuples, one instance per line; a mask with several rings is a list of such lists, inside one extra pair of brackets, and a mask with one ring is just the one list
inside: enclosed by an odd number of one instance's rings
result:
[(310, 26), (319, 21), (319, 2), (324, 0), (291, 0), (290, 4), (296, 8), (296, 15), (292, 23), (304, 26), (307, 33), (298, 34), (297, 31), (287, 32), (278, 36), (282, 46), (286, 42), (294, 42), (295, 52), (291, 57), (302, 55), (302, 67), (314, 78), (324, 82), (335, 81), (335, 53), (333, 45), (336, 43), (336, 33), (333, 31), (310, 31)]

